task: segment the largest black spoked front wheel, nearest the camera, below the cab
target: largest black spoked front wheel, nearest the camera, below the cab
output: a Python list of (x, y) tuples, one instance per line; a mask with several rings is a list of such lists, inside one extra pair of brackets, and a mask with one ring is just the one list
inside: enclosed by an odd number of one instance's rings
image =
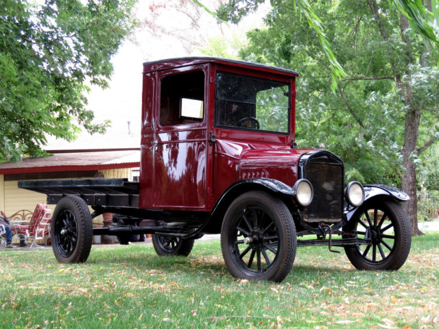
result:
[[(244, 242), (246, 238), (251, 241)], [(281, 199), (251, 191), (228, 207), (221, 228), (221, 249), (233, 276), (281, 282), (292, 269), (296, 247), (296, 226)]]

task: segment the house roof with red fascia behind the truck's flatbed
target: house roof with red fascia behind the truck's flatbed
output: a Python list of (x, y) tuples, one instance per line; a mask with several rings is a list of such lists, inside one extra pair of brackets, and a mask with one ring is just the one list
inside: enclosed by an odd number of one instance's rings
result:
[(139, 149), (69, 150), (54, 151), (46, 158), (23, 158), (19, 163), (0, 163), (0, 174), (121, 169), (139, 165)]

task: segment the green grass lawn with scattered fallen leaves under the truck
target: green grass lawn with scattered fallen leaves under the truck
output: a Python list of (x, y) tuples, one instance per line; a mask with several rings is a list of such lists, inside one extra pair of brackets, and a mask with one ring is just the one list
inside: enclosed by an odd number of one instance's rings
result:
[[(340, 249), (340, 248), (338, 248)], [(1, 328), (438, 328), (439, 232), (414, 238), (399, 271), (357, 271), (326, 247), (298, 248), (281, 283), (230, 276), (219, 241), (187, 258), (152, 245), (0, 252)]]

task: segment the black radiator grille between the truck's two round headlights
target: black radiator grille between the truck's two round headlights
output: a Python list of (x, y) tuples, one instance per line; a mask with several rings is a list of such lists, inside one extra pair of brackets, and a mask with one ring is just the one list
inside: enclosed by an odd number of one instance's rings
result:
[(305, 167), (305, 178), (314, 190), (313, 201), (305, 208), (305, 221), (341, 221), (343, 165), (309, 161)]

